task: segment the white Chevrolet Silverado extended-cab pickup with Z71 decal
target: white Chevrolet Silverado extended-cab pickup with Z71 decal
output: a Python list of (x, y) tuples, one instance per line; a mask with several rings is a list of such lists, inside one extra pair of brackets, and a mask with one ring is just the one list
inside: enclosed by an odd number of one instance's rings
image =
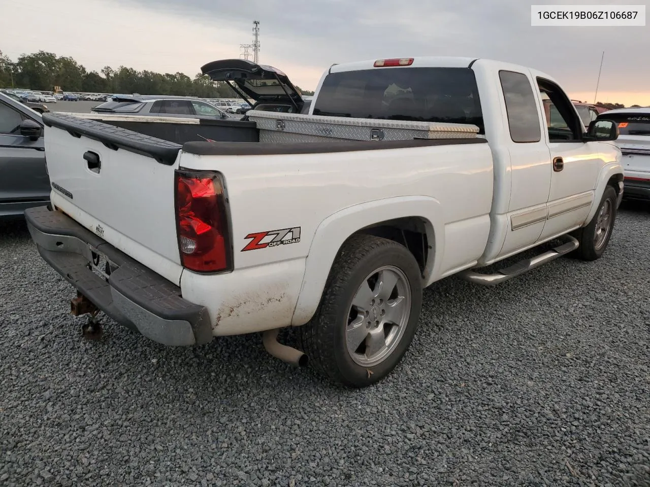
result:
[[(272, 355), (362, 387), (406, 352), (422, 288), (454, 274), (497, 284), (608, 244), (623, 192), (616, 123), (585, 131), (549, 75), (459, 57), (337, 64), (301, 114), (274, 68), (203, 72), (257, 88), (246, 118), (266, 127), (259, 142), (180, 145), (44, 115), (51, 206), (25, 215), (78, 290), (74, 314), (101, 310), (166, 345), (263, 332)], [(282, 327), (297, 327), (300, 350), (278, 343)]]

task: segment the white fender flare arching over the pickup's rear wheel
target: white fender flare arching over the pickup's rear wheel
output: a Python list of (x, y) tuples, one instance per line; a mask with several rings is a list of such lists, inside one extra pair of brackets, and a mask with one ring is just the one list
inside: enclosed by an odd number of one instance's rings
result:
[(341, 249), (341, 245), (355, 232), (396, 218), (419, 217), (424, 220), (429, 240), (427, 268), (424, 281), (435, 274), (445, 250), (445, 224), (442, 220), (440, 202), (432, 197), (399, 196), (359, 205), (348, 206), (331, 214), (318, 225), (309, 253), (305, 259), (305, 273), (300, 295), (294, 308), (292, 326), (304, 325), (318, 308), (331, 266)]

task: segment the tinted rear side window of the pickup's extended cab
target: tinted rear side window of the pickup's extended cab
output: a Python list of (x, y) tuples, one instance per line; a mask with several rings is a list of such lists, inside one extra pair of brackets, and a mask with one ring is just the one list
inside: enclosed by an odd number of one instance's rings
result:
[(499, 71), (499, 78), (512, 142), (539, 142), (539, 108), (528, 77), (523, 73)]

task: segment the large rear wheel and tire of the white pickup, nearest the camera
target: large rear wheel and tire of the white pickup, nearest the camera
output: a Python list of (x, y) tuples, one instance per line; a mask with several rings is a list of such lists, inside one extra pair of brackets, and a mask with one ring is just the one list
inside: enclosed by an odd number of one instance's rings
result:
[(357, 234), (339, 251), (315, 316), (300, 327), (302, 349), (331, 380), (369, 386), (402, 360), (421, 308), (421, 271), (408, 249)]

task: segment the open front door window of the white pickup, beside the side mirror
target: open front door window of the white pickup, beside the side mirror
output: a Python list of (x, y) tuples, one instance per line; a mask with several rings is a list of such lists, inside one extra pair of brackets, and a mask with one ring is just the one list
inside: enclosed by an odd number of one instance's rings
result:
[(549, 110), (546, 118), (549, 142), (579, 140), (584, 124), (577, 116), (569, 97), (556, 84), (539, 78), (537, 81), (541, 98)]

